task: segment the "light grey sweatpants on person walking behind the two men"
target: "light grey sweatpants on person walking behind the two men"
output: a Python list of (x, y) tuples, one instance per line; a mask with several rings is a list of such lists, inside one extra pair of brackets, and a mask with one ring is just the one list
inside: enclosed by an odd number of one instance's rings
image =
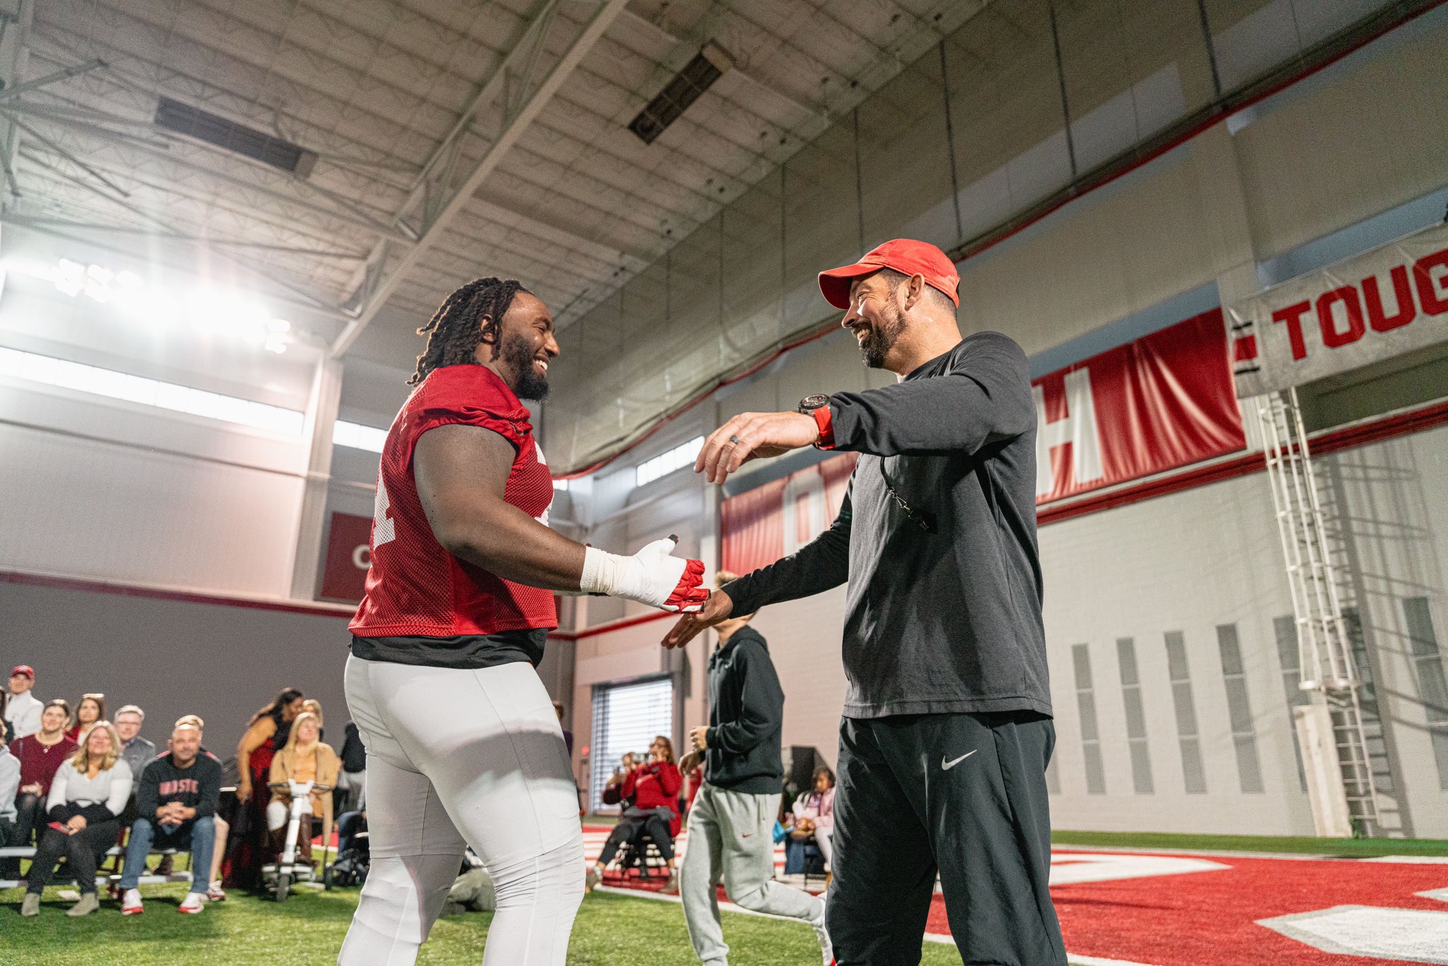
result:
[(683, 921), (705, 966), (728, 963), (720, 925), (718, 883), (730, 901), (754, 912), (817, 921), (824, 902), (775, 876), (779, 795), (749, 795), (705, 782), (689, 811), (689, 841), (679, 866)]

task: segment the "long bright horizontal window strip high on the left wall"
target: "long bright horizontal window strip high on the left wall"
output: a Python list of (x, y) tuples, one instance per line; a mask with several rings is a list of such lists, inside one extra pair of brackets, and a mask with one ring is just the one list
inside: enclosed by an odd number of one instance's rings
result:
[(223, 423), (255, 426), (282, 436), (300, 436), (304, 421), (304, 416), (298, 410), (252, 403), (235, 395), (206, 392), (187, 385), (161, 382), (129, 372), (101, 369), (16, 349), (0, 348), (0, 375), (113, 400), (126, 400), (140, 406), (155, 406), (177, 413), (204, 416)]

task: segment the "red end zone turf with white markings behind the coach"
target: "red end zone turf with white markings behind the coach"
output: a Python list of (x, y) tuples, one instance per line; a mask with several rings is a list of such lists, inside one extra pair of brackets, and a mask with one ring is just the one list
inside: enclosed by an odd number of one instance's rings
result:
[[(592, 860), (607, 830), (585, 833)], [(1448, 963), (1448, 863), (1057, 850), (1051, 882), (1073, 957), (1151, 966)], [(610, 878), (610, 885), (654, 891), (662, 879)], [(818, 889), (818, 879), (812, 885)], [(1335, 908), (1326, 918), (1263, 924)], [(927, 928), (950, 934), (938, 894)], [(1344, 936), (1360, 943), (1355, 953), (1319, 949)], [(1368, 950), (1378, 954), (1363, 954)]]

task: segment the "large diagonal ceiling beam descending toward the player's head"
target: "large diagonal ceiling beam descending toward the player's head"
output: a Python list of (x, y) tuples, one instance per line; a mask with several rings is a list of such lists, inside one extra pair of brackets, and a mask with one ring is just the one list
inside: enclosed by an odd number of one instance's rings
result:
[[(363, 274), (363, 291), (365, 298), (358, 301), (358, 317), (348, 323), (337, 339), (332, 343), (332, 356), (342, 356), (362, 330), (376, 317), (378, 310), (387, 303), (388, 297), (397, 291), (398, 284), (407, 277), (407, 272), (417, 265), (423, 253), (437, 242), (442, 233), (446, 230), (447, 223), (452, 222), (472, 198), (473, 193), (482, 185), (482, 182), (492, 174), (494, 168), (502, 156), (517, 143), (518, 138), (527, 129), (533, 119), (537, 117), (543, 106), (547, 104), (549, 98), (562, 87), (568, 75), (572, 74), (573, 68), (584, 59), (588, 51), (598, 42), (614, 19), (623, 13), (628, 0), (601, 0), (594, 16), (588, 20), (584, 29), (573, 38), (573, 42), (568, 46), (568, 51), (559, 58), (553, 68), (547, 72), (537, 87), (531, 87), (531, 67), (534, 56), (542, 52), (543, 39), (547, 33), (547, 26), (552, 20), (549, 16), (552, 12), (552, 4), (544, 7), (542, 14), (534, 19), (537, 25), (536, 48), (529, 52), (526, 58), (529, 61), (526, 71), (514, 77), (510, 74), (508, 62), (502, 64), (502, 68), (494, 74), (489, 83), (484, 87), (482, 93), (488, 93), (488, 88), (497, 88), (492, 98), (501, 96), (502, 112), (501, 112), (501, 129), (498, 136), (492, 140), (489, 148), (484, 152), (482, 158), (473, 165), (472, 171), (462, 180), (462, 182), (453, 188), (450, 172), (445, 172), (445, 180), (436, 182), (433, 191), (424, 193), (424, 211), (430, 214), (426, 219), (424, 230), (414, 245), (411, 245), (407, 252), (397, 261), (397, 264), (388, 268), (388, 245), (379, 245), (378, 258), (374, 264), (368, 266)], [(531, 26), (530, 26), (531, 30)], [(518, 46), (523, 46), (520, 43)], [(511, 61), (510, 54), (510, 61)], [(521, 90), (513, 90), (518, 85)], [(531, 90), (530, 90), (531, 88)], [(515, 107), (514, 107), (515, 103)], [(463, 119), (468, 120), (468, 119)], [(468, 130), (472, 125), (465, 123), (459, 127), (459, 136), (462, 132)], [(449, 151), (442, 151), (439, 159), (452, 154)], [(456, 154), (453, 154), (456, 158)], [(439, 164), (433, 164), (432, 168), (437, 168)], [(443, 164), (443, 168), (450, 165)], [(426, 196), (432, 194), (432, 198)]]

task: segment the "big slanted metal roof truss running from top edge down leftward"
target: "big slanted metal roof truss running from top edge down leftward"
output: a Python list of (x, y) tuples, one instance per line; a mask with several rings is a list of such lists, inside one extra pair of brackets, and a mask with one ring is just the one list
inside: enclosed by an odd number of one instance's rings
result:
[[(433, 154), (423, 168), (423, 181), (414, 187), (404, 206), (394, 219), (394, 224), (407, 223), (408, 219), (418, 217), (413, 224), (417, 230), (417, 242), (392, 261), (390, 251), (394, 243), (382, 240), (374, 249), (362, 272), (362, 284), (353, 293), (349, 307), (356, 311), (356, 319), (348, 323), (342, 333), (332, 343), (332, 356), (342, 356), (362, 330), (376, 317), (376, 313), (387, 303), (388, 297), (398, 288), (401, 281), (418, 264), (421, 256), (432, 248), (439, 236), (446, 230), (472, 194), (482, 185), (484, 180), (492, 174), (502, 155), (518, 140), (527, 126), (539, 114), (553, 93), (563, 84), (573, 68), (584, 59), (589, 48), (598, 42), (604, 30), (623, 12), (627, 0), (598, 0), (592, 6), (594, 14), (584, 23), (573, 36), (568, 49), (559, 56), (542, 81), (534, 81), (534, 71), (547, 41), (549, 26), (559, 0), (543, 0), (530, 10), (531, 16), (524, 36), (513, 46), (498, 70), (478, 91), (478, 97), (469, 104), (469, 110), (458, 119), (452, 136)], [(491, 138), (476, 130), (484, 119), (484, 110), (497, 113), (497, 130), (488, 132)], [(484, 136), (489, 143), (482, 156), (471, 171), (459, 178), (456, 161), (462, 154), (462, 139)], [(421, 211), (414, 209), (421, 206)]]

